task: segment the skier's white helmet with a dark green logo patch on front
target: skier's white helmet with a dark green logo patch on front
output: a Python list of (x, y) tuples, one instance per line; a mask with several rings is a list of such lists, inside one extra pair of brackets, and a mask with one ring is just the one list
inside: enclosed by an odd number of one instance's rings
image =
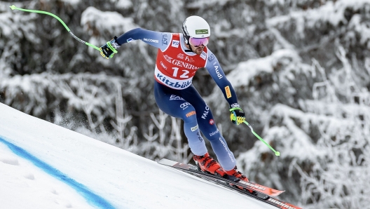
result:
[(186, 44), (192, 38), (207, 38), (211, 35), (210, 25), (205, 19), (199, 16), (190, 16), (182, 23), (182, 33), (184, 34)]

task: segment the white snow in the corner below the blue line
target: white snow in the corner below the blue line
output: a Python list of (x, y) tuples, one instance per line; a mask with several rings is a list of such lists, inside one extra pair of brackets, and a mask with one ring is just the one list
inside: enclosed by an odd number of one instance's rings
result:
[[(5, 182), (0, 190), (8, 191), (1, 192), (0, 208), (46, 208), (46, 205), (53, 205), (55, 209), (93, 208), (74, 189), (61, 186), (58, 180), (13, 153), (6, 144), (0, 143), (0, 148), (0, 180)], [(14, 176), (15, 173), (18, 175)], [(35, 194), (40, 201), (32, 199)], [(13, 196), (22, 196), (21, 202), (7, 201), (12, 200)], [(83, 202), (86, 203), (81, 204)]]

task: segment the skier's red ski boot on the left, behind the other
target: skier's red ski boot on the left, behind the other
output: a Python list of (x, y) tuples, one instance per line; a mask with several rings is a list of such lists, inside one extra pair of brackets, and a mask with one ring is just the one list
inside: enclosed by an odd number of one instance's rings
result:
[(221, 168), (220, 164), (216, 160), (212, 159), (208, 152), (203, 156), (194, 155), (193, 160), (196, 161), (198, 168), (204, 172), (219, 175), (221, 177), (227, 175), (224, 169)]

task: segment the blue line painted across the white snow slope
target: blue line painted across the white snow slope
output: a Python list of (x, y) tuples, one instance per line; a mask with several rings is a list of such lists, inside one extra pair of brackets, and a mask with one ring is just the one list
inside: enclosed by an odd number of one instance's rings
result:
[(60, 172), (59, 170), (49, 166), (47, 163), (41, 161), (40, 159), (37, 159), (32, 154), (29, 154), (29, 152), (25, 151), (25, 149), (22, 149), (16, 146), (15, 144), (12, 144), (11, 142), (4, 140), (4, 137), (1, 137), (1, 136), (0, 136), (0, 142), (6, 144), (6, 146), (8, 146), (9, 149), (11, 149), (11, 151), (13, 151), (18, 156), (31, 161), (32, 163), (34, 163), (35, 166), (41, 168), (41, 170), (52, 175), (53, 177), (56, 177), (58, 180), (61, 180), (62, 182), (68, 184), (69, 187), (76, 189), (76, 191), (78, 191), (78, 193), (81, 194), (86, 199), (86, 201), (88, 201), (88, 203), (90, 203), (91, 205), (94, 205), (97, 208), (104, 208), (104, 209), (114, 208), (113, 205), (111, 205), (107, 200), (105, 200), (101, 196), (98, 196), (97, 194), (94, 194), (92, 191), (86, 188), (83, 184), (76, 182), (70, 177), (67, 177), (67, 175), (64, 175), (64, 173)]

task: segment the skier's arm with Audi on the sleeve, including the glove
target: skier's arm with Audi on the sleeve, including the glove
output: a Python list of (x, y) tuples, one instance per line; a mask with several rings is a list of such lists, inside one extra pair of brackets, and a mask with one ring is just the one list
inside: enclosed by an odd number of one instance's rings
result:
[(210, 50), (208, 50), (205, 68), (212, 76), (212, 79), (217, 83), (222, 93), (224, 93), (224, 97), (230, 105), (231, 121), (237, 125), (245, 121), (245, 114), (238, 104), (238, 97), (236, 96), (235, 90), (233, 86), (231, 86), (230, 81), (226, 78), (224, 70), (222, 70), (219, 64), (219, 60), (217, 60), (216, 56)]

